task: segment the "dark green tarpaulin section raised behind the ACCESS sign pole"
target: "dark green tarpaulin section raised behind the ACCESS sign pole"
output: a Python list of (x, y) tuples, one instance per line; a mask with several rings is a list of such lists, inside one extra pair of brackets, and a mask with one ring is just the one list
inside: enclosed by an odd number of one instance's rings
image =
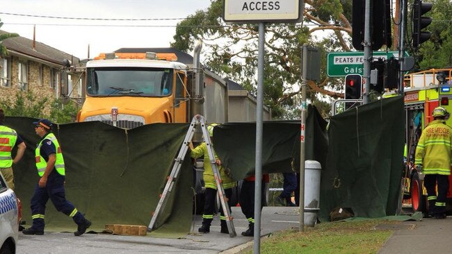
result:
[[(306, 160), (325, 164), (327, 122), (309, 107), (306, 120)], [(214, 146), (232, 177), (241, 180), (255, 172), (256, 124), (228, 123), (214, 129)], [(265, 121), (262, 134), (262, 171), (277, 173), (300, 169), (300, 121)]]

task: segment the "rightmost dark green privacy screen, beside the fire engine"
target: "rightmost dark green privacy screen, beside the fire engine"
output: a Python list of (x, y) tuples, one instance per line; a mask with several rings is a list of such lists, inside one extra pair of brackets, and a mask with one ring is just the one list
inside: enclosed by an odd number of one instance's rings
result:
[(330, 119), (328, 162), (321, 175), (320, 217), (336, 207), (356, 217), (397, 212), (405, 142), (403, 98), (396, 96)]

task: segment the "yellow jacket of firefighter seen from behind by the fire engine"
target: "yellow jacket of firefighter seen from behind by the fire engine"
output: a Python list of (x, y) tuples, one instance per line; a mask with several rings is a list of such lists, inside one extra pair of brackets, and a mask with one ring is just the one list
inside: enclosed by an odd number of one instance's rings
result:
[(452, 128), (444, 120), (434, 120), (423, 129), (416, 147), (414, 163), (423, 173), (451, 175)]

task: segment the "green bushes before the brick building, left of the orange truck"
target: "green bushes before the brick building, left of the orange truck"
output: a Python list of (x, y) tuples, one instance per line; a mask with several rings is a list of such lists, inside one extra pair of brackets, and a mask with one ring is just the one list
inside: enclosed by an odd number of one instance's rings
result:
[[(46, 105), (51, 105), (50, 114), (45, 111)], [(78, 111), (75, 103), (63, 105), (60, 100), (38, 98), (29, 90), (18, 91), (14, 102), (8, 99), (0, 101), (0, 108), (9, 116), (47, 118), (58, 124), (73, 122)]]

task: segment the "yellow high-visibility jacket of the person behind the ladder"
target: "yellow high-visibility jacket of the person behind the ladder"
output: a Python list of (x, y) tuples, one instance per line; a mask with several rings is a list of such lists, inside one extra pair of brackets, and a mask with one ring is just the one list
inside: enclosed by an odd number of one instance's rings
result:
[[(213, 151), (214, 156), (218, 159), (215, 151)], [(213, 176), (212, 165), (210, 164), (209, 152), (207, 151), (207, 144), (202, 142), (199, 146), (196, 146), (195, 149), (192, 149), (190, 152), (191, 158), (200, 158), (204, 156), (204, 173), (202, 176), (204, 177), (204, 186), (207, 188), (216, 189), (215, 177)], [(223, 166), (218, 167), (220, 171), (220, 178), (223, 181), (223, 189), (229, 189), (236, 185), (229, 176), (225, 173), (225, 168)]]

